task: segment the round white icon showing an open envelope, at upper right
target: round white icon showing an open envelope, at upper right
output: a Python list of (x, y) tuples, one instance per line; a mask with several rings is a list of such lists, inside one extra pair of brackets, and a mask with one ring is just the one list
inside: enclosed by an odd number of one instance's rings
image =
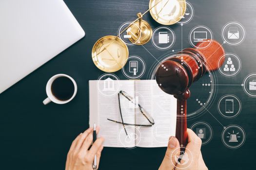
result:
[(245, 34), (245, 28), (239, 22), (229, 22), (221, 31), (224, 42), (232, 46), (241, 44), (245, 39)]

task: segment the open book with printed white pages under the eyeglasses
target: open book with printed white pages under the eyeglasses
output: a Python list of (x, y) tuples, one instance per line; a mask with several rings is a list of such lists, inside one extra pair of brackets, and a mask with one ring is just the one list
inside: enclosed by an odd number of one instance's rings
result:
[[(118, 91), (114, 95), (106, 96), (98, 88), (103, 86), (103, 80), (89, 81), (89, 124), (90, 127), (94, 123), (100, 126), (98, 136), (105, 137), (104, 146), (166, 147), (169, 137), (175, 136), (177, 100), (164, 93), (155, 80), (119, 80), (113, 83), (115, 87), (118, 84)], [(126, 95), (119, 93), (118, 97), (119, 91)], [(129, 101), (127, 96), (132, 100)], [(154, 119), (154, 125), (141, 113), (138, 106)], [(120, 110), (123, 122), (128, 125), (109, 120), (122, 122)]]

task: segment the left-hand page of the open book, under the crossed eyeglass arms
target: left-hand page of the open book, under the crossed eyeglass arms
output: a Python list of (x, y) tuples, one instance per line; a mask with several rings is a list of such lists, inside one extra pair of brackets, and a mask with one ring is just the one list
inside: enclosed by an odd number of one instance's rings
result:
[[(134, 96), (134, 81), (130, 80), (120, 80), (114, 81), (115, 84), (119, 82), (119, 90), (124, 91), (127, 95)], [(123, 125), (110, 121), (112, 119), (115, 121), (122, 122), (120, 116), (118, 93), (113, 96), (105, 96), (104, 92), (101, 93), (101, 87), (104, 81), (89, 81), (89, 91), (90, 91), (90, 127), (96, 123), (100, 126), (100, 131), (98, 137), (104, 136), (104, 146), (106, 147), (127, 147), (131, 148), (135, 146), (135, 128), (133, 126), (128, 126), (123, 128)], [(99, 84), (99, 85), (98, 85)], [(115, 85), (116, 86), (116, 85)], [(124, 93), (123, 92), (123, 93)], [(122, 112), (122, 117), (124, 123), (135, 123), (135, 108), (129, 107), (129, 100), (120, 94), (120, 108)], [(126, 135), (126, 133), (127, 135)]]

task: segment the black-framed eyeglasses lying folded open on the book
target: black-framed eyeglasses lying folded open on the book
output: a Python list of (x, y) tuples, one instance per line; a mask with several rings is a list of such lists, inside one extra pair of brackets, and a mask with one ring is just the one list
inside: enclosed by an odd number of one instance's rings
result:
[[(140, 113), (149, 121), (150, 124), (130, 124), (130, 123), (124, 123), (123, 122), (123, 117), (122, 117), (122, 111), (121, 111), (121, 105), (120, 105), (120, 95), (124, 96), (126, 99), (128, 99), (131, 103), (133, 103), (135, 106), (138, 106), (138, 109), (140, 111)], [(126, 133), (126, 135), (128, 136), (126, 130), (125, 130), (125, 126), (124, 125), (131, 125), (131, 126), (146, 126), (146, 127), (150, 127), (153, 126), (155, 124), (154, 119), (145, 111), (145, 109), (143, 109), (143, 107), (140, 106), (140, 104), (136, 103), (136, 101), (134, 100), (133, 97), (129, 96), (126, 92), (124, 91), (119, 91), (118, 93), (118, 103), (119, 103), (119, 110), (120, 110), (120, 116), (121, 116), (121, 120), (120, 121), (116, 121), (116, 120), (112, 120), (112, 119), (108, 119), (110, 121), (116, 122), (116, 123), (120, 123), (123, 125), (124, 131)]]

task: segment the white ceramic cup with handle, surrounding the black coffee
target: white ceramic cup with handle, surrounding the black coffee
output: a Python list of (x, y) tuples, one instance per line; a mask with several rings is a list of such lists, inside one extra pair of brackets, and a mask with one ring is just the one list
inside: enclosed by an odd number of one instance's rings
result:
[[(54, 96), (54, 94), (52, 93), (52, 89), (51, 89), (52, 84), (53, 84), (54, 80), (57, 79), (57, 78), (59, 78), (59, 77), (67, 77), (67, 78), (69, 78), (69, 79), (73, 82), (73, 84), (74, 84), (74, 94), (73, 94), (73, 96), (72, 96), (70, 99), (68, 99), (68, 100), (66, 100), (66, 101), (61, 101), (61, 100), (57, 99), (57, 98)], [(55, 103), (57, 103), (57, 104), (65, 104), (65, 103), (67, 103), (67, 102), (72, 101), (72, 99), (74, 99), (74, 97), (75, 97), (76, 94), (77, 94), (77, 91), (78, 91), (77, 83), (76, 83), (76, 81), (75, 81), (72, 77), (70, 77), (69, 75), (66, 75), (66, 74), (56, 74), (56, 75), (54, 75), (53, 77), (51, 77), (51, 78), (49, 79), (49, 81), (47, 82), (47, 85), (46, 85), (46, 94), (47, 94), (48, 97), (43, 101), (43, 104), (46, 105), (46, 104), (48, 104), (49, 102), (55, 102)]]

